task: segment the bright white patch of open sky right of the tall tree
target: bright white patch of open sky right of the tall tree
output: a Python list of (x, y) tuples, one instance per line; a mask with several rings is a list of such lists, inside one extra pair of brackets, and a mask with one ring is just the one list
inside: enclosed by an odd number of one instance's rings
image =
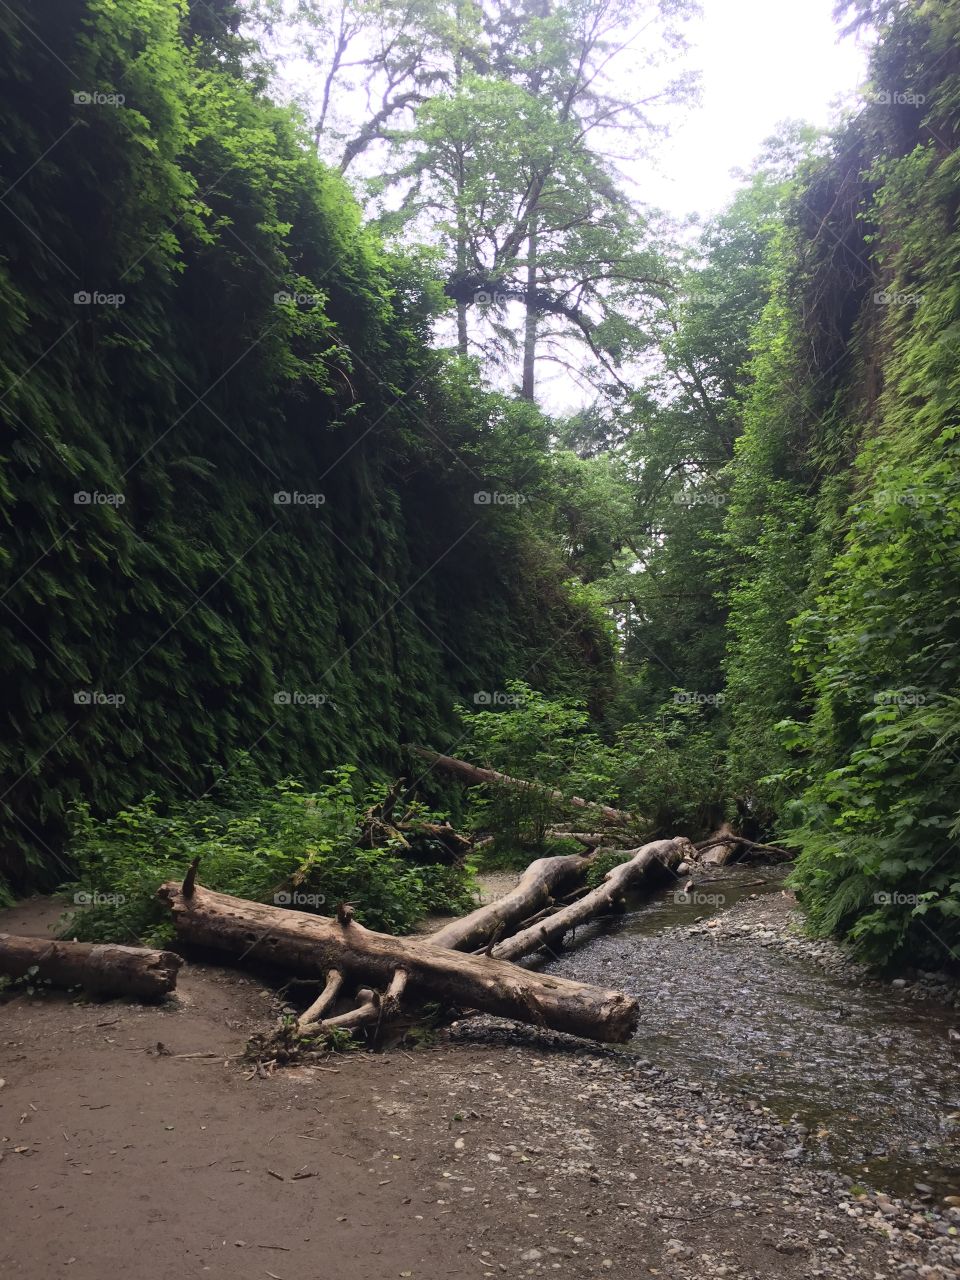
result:
[(840, 38), (835, 0), (701, 0), (690, 23), (690, 65), (703, 78), (703, 102), (675, 127), (660, 151), (662, 175), (645, 175), (645, 197), (672, 214), (714, 214), (739, 186), (783, 119), (827, 125), (832, 104), (852, 100), (867, 49)]

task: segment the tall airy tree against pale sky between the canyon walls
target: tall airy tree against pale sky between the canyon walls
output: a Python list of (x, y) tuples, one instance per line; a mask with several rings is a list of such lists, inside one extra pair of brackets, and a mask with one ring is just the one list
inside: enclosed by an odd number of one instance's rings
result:
[(351, 76), (369, 74), (340, 165), (370, 161), (379, 145), (369, 191), (383, 228), (439, 241), (457, 349), (471, 349), (472, 308), (486, 360), (506, 364), (522, 347), (526, 398), (538, 360), (572, 367), (571, 337), (616, 380), (637, 296), (666, 287), (617, 164), (659, 131), (659, 108), (690, 90), (668, 73), (690, 9), (686, 0), (337, 10), (311, 0), (305, 9), (307, 29), (323, 37), (312, 50), (321, 148), (344, 137), (329, 113), (334, 86), (349, 97)]

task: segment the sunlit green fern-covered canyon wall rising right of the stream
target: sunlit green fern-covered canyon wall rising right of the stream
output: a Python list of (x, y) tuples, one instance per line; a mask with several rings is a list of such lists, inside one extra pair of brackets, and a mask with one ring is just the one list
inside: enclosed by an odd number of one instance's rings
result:
[(877, 92), (805, 177), (737, 457), (731, 769), (800, 849), (815, 933), (956, 965), (960, 168), (931, 138), (960, 15), (859, 8)]

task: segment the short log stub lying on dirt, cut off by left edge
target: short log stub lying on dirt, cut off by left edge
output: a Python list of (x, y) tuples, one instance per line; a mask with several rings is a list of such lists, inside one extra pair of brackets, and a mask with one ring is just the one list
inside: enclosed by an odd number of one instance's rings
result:
[(93, 996), (163, 1000), (177, 986), (183, 961), (173, 951), (105, 942), (54, 942), (0, 933), (0, 974), (23, 978), (36, 965), (37, 980), (83, 987)]

